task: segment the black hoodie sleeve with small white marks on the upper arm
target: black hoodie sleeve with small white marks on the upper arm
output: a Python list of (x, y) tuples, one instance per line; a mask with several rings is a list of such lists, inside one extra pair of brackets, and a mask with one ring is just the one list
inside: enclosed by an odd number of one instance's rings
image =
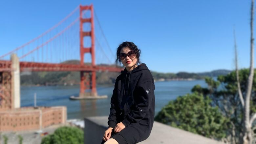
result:
[(154, 96), (154, 83), (152, 80), (148, 80), (139, 84), (138, 86), (138, 95), (136, 95), (135, 105), (132, 107), (131, 112), (127, 114), (126, 118), (122, 121), (125, 125), (130, 123), (136, 123), (142, 120), (145, 115), (148, 113), (152, 98)]

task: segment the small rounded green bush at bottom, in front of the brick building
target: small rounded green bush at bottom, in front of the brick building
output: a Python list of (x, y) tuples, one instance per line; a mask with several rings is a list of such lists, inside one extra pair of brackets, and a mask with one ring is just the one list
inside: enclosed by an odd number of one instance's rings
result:
[(83, 144), (84, 133), (77, 127), (60, 127), (42, 139), (41, 144)]

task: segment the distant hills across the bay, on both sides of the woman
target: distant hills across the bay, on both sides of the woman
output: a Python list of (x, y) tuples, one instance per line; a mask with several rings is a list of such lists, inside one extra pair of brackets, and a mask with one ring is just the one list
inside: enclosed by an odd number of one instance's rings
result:
[[(78, 60), (69, 60), (65, 64), (80, 64)], [(84, 63), (88, 65), (90, 63)], [(101, 66), (115, 66), (102, 64)], [(123, 67), (120, 67), (123, 68)], [(151, 71), (154, 80), (187, 80), (203, 79), (205, 76), (226, 75), (231, 71), (215, 70), (211, 72), (189, 73), (162, 73)], [(120, 72), (96, 72), (96, 83), (100, 85), (113, 85)], [(21, 85), (79, 85), (80, 72), (22, 72)]]

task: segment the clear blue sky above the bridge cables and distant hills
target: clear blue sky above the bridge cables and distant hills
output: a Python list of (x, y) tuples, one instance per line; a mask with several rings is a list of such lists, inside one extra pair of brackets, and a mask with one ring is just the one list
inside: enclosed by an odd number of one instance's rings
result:
[(48, 30), (79, 4), (92, 3), (112, 51), (132, 41), (152, 71), (233, 70), (234, 25), (239, 67), (249, 67), (249, 0), (2, 0), (0, 55)]

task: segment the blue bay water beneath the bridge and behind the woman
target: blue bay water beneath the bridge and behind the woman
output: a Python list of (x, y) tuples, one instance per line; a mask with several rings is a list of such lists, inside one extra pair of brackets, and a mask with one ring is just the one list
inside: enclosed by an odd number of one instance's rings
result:
[[(191, 93), (195, 85), (206, 87), (204, 80), (158, 81), (155, 82), (155, 115), (170, 100), (186, 93)], [(68, 119), (83, 119), (87, 116), (108, 116), (113, 86), (97, 86), (98, 95), (108, 95), (106, 99), (70, 100), (72, 95), (78, 96), (79, 85), (76, 86), (21, 86), (21, 107), (34, 106), (36, 93), (37, 106), (66, 106)]]

